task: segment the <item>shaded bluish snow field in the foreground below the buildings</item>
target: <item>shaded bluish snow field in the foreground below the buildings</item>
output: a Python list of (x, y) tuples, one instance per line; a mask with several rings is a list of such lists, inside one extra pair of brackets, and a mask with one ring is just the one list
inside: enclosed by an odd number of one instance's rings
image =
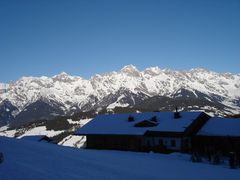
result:
[(0, 137), (1, 180), (240, 179), (240, 169), (192, 163), (184, 154), (86, 150)]

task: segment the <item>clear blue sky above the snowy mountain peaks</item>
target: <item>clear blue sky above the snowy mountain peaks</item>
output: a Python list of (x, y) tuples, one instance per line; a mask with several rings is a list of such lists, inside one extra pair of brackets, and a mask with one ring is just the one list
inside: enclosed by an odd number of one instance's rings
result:
[(0, 82), (127, 64), (240, 73), (240, 1), (0, 1)]

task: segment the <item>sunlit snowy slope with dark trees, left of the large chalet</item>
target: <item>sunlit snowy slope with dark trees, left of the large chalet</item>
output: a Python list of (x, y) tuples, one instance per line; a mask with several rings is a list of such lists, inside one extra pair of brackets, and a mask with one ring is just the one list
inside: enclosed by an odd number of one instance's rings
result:
[[(21, 128), (8, 129), (8, 126), (0, 128), (0, 136), (16, 137), (21, 139), (25, 136), (48, 136), (55, 143), (70, 147), (83, 147), (85, 136), (75, 136), (76, 129), (84, 126), (91, 119), (56, 119), (38, 123), (30, 123)], [(60, 125), (60, 126), (59, 126)]]

